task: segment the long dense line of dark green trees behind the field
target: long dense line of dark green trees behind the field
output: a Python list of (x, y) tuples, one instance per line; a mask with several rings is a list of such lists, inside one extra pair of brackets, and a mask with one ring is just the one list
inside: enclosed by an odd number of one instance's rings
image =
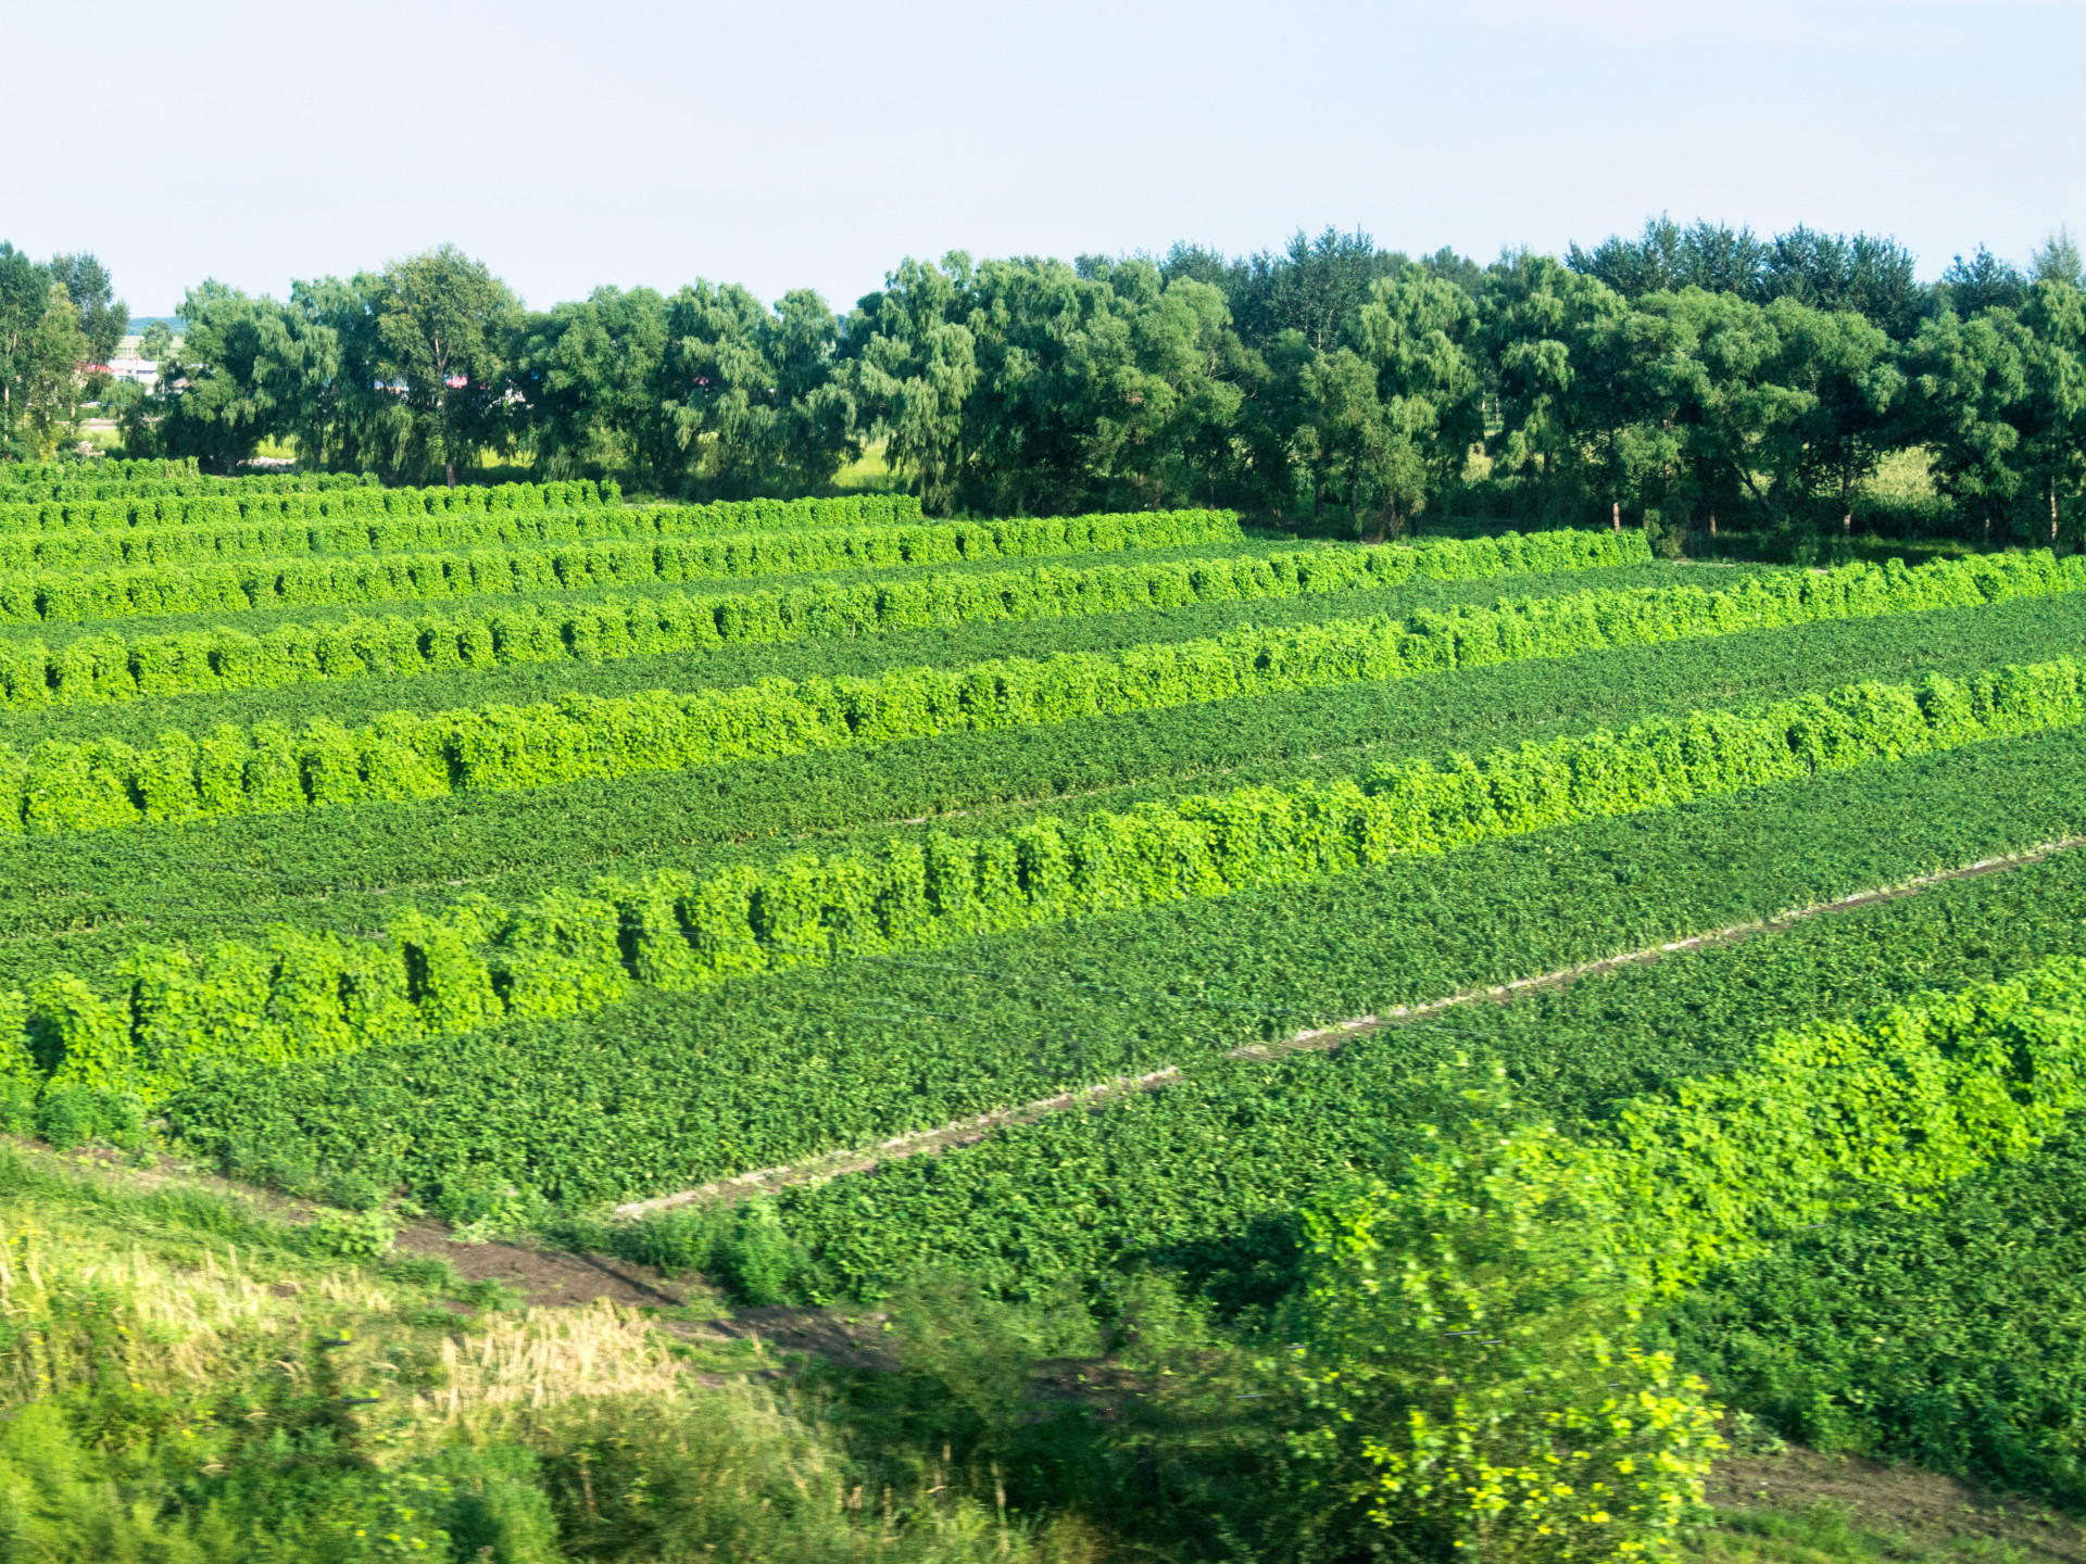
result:
[[(1669, 219), (1491, 265), (1331, 229), (1243, 259), (951, 252), (845, 315), (709, 282), (536, 313), (444, 246), (288, 300), (204, 282), (181, 317), (125, 442), (215, 471), (271, 440), (392, 482), (501, 453), (745, 498), (822, 492), (874, 446), (937, 515), (1224, 505), (1364, 536), (1723, 517), (1786, 538), (1861, 517), (2044, 542), (2086, 513), (2063, 231), (2028, 269), (1980, 248), (1934, 284), (1886, 238)], [(1898, 453), (1932, 473), (1927, 513), (1886, 515), (1873, 480)]]

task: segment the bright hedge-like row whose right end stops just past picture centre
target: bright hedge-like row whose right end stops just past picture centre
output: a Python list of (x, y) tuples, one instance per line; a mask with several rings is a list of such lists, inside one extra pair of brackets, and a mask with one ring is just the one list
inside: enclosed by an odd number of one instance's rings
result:
[(246, 565), (146, 565), (98, 573), (0, 578), (0, 621), (88, 621), (144, 613), (240, 613), (298, 603), (398, 603), (584, 590), (630, 582), (707, 582), (878, 569), (960, 559), (1118, 553), (1237, 542), (1231, 511), (953, 521), (824, 532), (749, 532), (659, 542), (469, 548), (423, 555), (271, 559)]

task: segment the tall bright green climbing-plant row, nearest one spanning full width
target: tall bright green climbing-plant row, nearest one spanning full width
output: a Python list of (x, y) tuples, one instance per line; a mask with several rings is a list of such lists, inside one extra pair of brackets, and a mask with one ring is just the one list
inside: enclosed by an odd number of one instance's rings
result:
[[(146, 947), (117, 997), (58, 974), (10, 999), (27, 1038), (15, 1070), (33, 1059), (54, 1082), (152, 1097), (213, 1061), (325, 1057), (505, 1016), (569, 1016), (630, 982), (693, 991), (772, 968), (1220, 897), (2082, 719), (2086, 680), (2067, 659), (1961, 684), (1859, 684), (1481, 761), (1404, 761), (1362, 784), (1241, 788), (1081, 822), (1045, 815), (999, 836), (932, 832), (701, 882), (684, 872), (603, 880), (592, 895), (561, 890), (519, 909), (471, 897), (446, 922), (407, 913), (384, 943), (277, 928), (265, 947), (223, 943), (200, 957)], [(1665, 1134), (1667, 1122), (1648, 1109), (1640, 1120), (1646, 1128), (1629, 1132), (1644, 1145)]]

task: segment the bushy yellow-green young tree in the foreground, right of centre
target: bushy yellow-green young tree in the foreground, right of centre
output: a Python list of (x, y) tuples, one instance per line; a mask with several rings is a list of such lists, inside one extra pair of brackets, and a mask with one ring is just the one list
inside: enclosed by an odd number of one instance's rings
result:
[(1306, 1214), (1281, 1320), (1291, 1449), (1406, 1558), (1671, 1560), (1717, 1408), (1648, 1349), (1627, 1218), (1494, 1093)]

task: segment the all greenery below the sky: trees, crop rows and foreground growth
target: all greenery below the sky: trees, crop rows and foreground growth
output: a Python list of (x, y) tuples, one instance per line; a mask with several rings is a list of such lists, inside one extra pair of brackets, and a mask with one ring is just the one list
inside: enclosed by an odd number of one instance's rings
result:
[(2086, 1506), (2078, 273), (0, 250), (0, 1558)]

